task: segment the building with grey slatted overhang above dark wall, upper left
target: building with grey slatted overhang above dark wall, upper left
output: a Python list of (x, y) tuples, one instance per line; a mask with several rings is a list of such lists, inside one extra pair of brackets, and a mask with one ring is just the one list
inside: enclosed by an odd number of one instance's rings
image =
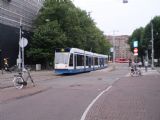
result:
[(0, 61), (7, 58), (9, 66), (16, 64), (20, 25), (29, 39), (32, 24), (44, 0), (0, 0)]

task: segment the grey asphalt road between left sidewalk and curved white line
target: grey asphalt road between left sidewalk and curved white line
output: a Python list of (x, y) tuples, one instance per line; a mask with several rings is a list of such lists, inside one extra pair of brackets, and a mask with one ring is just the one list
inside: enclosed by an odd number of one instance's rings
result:
[(128, 74), (128, 64), (116, 69), (60, 76), (39, 84), (50, 89), (0, 104), (0, 120), (80, 120), (92, 100)]

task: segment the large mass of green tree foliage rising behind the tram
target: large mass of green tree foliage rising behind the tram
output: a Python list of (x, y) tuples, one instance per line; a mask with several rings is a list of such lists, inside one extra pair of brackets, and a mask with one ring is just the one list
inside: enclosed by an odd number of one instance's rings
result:
[(110, 44), (86, 11), (70, 0), (46, 0), (27, 55), (36, 62), (53, 61), (54, 49), (65, 47), (107, 54)]

